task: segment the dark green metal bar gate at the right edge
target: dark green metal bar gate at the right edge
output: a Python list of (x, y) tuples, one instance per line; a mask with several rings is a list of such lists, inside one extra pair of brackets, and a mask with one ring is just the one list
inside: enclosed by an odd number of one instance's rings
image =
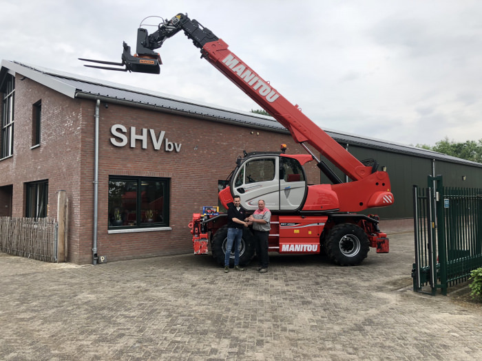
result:
[(482, 267), (482, 189), (444, 187), (428, 176), (427, 188), (413, 187), (415, 263), (413, 290), (431, 294), (467, 281)]

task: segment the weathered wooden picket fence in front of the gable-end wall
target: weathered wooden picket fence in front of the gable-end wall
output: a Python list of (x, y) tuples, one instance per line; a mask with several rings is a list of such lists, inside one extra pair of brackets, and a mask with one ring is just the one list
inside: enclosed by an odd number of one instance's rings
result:
[(52, 218), (0, 217), (0, 251), (57, 262), (58, 228)]

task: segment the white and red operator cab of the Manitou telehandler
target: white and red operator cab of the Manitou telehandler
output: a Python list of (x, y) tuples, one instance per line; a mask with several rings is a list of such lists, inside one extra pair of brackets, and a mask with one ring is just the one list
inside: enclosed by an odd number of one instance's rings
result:
[(308, 193), (302, 164), (312, 159), (309, 155), (248, 155), (231, 177), (233, 195), (241, 197), (246, 210), (258, 209), (260, 199), (271, 211), (300, 209)]

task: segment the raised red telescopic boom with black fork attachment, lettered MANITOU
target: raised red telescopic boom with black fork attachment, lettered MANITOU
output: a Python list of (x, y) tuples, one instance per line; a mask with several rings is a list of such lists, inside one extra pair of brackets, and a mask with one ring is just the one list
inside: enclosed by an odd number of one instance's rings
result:
[[(304, 145), (304, 142), (313, 146), (354, 181), (364, 179), (377, 171), (377, 164), (366, 166), (359, 162), (343, 146), (339, 145), (306, 117), (297, 105), (292, 105), (276, 89), (271, 87), (269, 82), (263, 80), (238, 56), (229, 51), (227, 43), (224, 43), (222, 39), (218, 39), (211, 30), (202, 27), (198, 21), (189, 19), (185, 14), (178, 14), (169, 21), (163, 21), (163, 23), (160, 23), (158, 30), (152, 34), (147, 34), (147, 30), (139, 28), (137, 54), (131, 56), (130, 48), (124, 43), (122, 63), (98, 63), (125, 65), (125, 69), (121, 69), (125, 71), (158, 74), (161, 62), (158, 53), (154, 52), (154, 50), (161, 47), (166, 39), (174, 36), (180, 30), (183, 30), (186, 36), (193, 41), (193, 44), (201, 49), (202, 57), (206, 58), (209, 63), (240, 87), (260, 107), (268, 111), (278, 122), (286, 127), (295, 142), (302, 144), (306, 151), (311, 153), (308, 147)], [(92, 65), (86, 66), (96, 67)], [(101, 68), (112, 69), (108, 67)], [(311, 155), (317, 160), (313, 153)], [(319, 160), (317, 162), (319, 168), (324, 171), (333, 183), (342, 183), (324, 162)], [(386, 179), (388, 179), (388, 176), (386, 176)]]

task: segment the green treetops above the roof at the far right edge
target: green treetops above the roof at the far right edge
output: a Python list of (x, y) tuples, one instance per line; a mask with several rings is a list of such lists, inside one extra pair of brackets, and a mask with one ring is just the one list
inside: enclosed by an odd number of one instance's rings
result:
[(452, 157), (482, 163), (482, 139), (479, 139), (477, 142), (474, 140), (454, 142), (454, 140), (449, 140), (446, 137), (443, 140), (439, 140), (434, 146), (427, 144), (417, 144), (417, 146), (422, 149), (452, 155)]

